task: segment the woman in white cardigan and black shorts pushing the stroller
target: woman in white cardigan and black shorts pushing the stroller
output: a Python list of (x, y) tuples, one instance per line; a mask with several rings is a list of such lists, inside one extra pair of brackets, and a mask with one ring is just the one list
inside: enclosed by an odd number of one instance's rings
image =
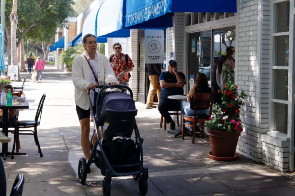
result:
[[(117, 78), (105, 55), (97, 54), (96, 36), (87, 34), (82, 40), (85, 51), (75, 57), (72, 64), (72, 80), (75, 86), (75, 104), (81, 126), (81, 146), (85, 158), (90, 156), (90, 103), (88, 90), (98, 92), (96, 85), (115, 85)], [(90, 91), (91, 104), (94, 106), (94, 92)], [(95, 109), (95, 107), (93, 107)], [(91, 141), (94, 145), (96, 138)]]

